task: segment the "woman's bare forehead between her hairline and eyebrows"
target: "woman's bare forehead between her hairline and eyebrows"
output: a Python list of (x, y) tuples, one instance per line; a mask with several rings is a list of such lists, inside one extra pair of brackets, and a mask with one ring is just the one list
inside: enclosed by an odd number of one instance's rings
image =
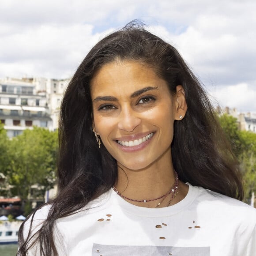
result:
[(138, 61), (115, 61), (105, 64), (90, 82), (92, 98), (109, 94), (132, 94), (144, 87), (167, 88), (154, 68)]

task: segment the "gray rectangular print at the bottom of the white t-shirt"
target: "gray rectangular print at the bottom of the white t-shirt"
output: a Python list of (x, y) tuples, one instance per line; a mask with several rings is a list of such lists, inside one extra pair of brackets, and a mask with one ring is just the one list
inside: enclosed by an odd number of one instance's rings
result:
[(94, 244), (92, 256), (210, 256), (210, 247), (128, 246)]

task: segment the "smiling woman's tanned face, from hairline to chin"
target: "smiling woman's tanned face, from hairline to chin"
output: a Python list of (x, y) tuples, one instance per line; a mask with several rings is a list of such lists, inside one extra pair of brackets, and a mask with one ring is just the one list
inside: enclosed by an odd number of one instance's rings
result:
[(171, 95), (153, 68), (136, 61), (105, 64), (94, 75), (93, 127), (118, 164), (138, 170), (163, 155), (170, 159), (173, 122), (182, 114), (177, 95), (183, 92)]

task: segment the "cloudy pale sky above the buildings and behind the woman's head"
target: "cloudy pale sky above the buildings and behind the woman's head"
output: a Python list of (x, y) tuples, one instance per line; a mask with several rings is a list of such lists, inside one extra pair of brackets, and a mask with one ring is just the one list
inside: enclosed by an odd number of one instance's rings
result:
[(212, 101), (256, 112), (255, 0), (0, 0), (0, 78), (68, 78), (132, 19), (173, 44)]

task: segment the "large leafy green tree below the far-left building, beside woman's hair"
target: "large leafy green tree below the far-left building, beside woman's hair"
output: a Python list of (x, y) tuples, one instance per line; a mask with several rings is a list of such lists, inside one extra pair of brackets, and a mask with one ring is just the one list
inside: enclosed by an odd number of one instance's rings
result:
[(11, 140), (9, 154), (9, 182), (14, 185), (13, 194), (25, 203), (31, 186), (38, 184), (41, 196), (52, 188), (55, 181), (57, 132), (34, 127), (25, 130)]

